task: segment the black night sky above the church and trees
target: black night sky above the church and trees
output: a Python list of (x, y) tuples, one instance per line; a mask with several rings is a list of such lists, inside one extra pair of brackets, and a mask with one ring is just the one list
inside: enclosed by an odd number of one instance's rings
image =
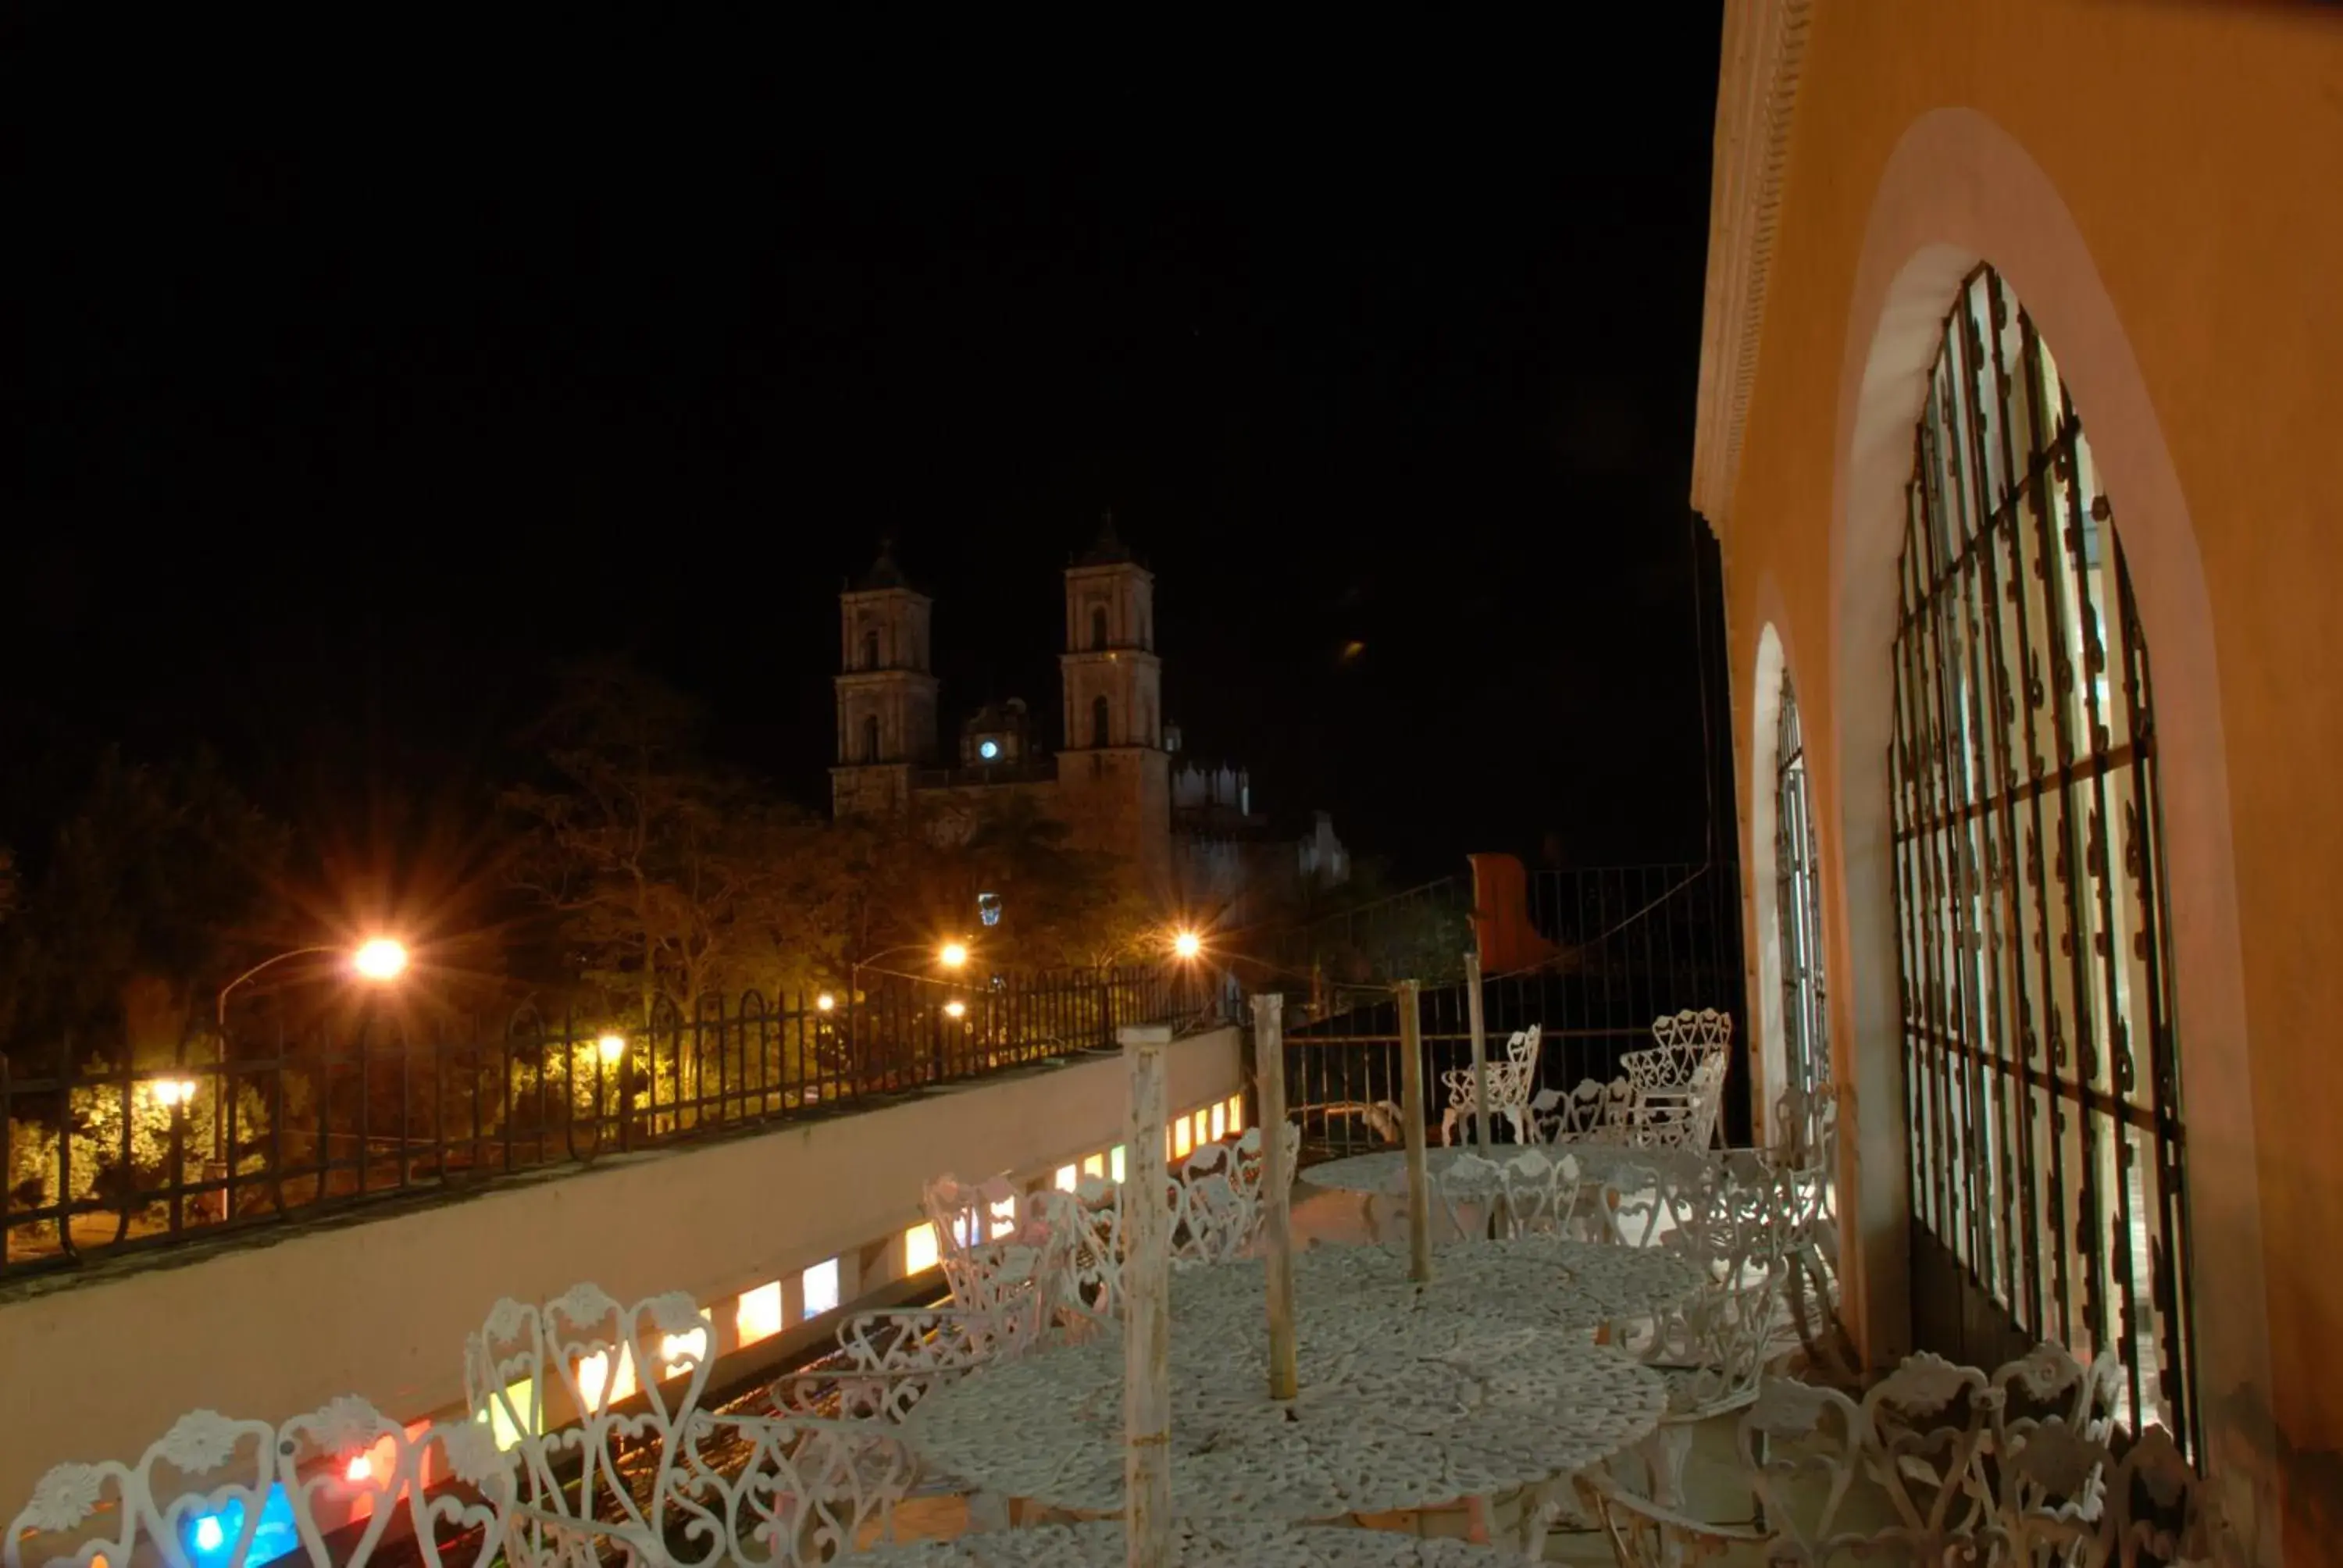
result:
[(1485, 35), (1082, 98), (825, 82), (771, 21), (469, 82), (19, 23), (0, 745), (206, 738), (349, 834), (485, 799), (548, 661), (626, 647), (815, 804), (874, 541), (949, 743), (1057, 713), (1111, 506), (1167, 717), (1256, 799), (1408, 872), (1694, 858), (1715, 16), (1631, 9), (1600, 70)]

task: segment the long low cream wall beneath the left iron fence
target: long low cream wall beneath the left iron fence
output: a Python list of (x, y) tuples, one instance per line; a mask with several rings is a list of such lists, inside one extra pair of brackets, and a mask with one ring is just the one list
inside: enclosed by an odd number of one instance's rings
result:
[[(1172, 1109), (1242, 1090), (1235, 1029), (1179, 1041)], [(0, 1519), (59, 1460), (136, 1458), (180, 1411), (281, 1420), (358, 1392), (401, 1420), (462, 1404), (464, 1336), (499, 1296), (593, 1280), (731, 1298), (839, 1259), (853, 1301), (942, 1172), (1047, 1174), (1125, 1137), (1118, 1057), (1045, 1064), (708, 1146), (614, 1155), (380, 1216), (220, 1242), (0, 1301)]]

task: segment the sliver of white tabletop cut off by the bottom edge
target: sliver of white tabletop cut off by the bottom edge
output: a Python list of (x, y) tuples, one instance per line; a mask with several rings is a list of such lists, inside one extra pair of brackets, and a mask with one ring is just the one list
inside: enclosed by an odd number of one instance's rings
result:
[[(876, 1547), (855, 1568), (1097, 1568), (1125, 1561), (1120, 1519)], [(1174, 1568), (1507, 1568), (1521, 1554), (1462, 1540), (1244, 1521), (1172, 1526)]]

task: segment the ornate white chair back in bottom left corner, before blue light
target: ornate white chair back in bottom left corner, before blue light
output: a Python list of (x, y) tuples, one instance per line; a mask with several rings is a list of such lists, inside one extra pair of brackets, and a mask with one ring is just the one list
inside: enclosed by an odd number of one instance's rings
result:
[(0, 1563), (358, 1568), (384, 1552), (485, 1566), (504, 1549), (513, 1472), (473, 1420), (410, 1434), (356, 1395), (284, 1425), (190, 1411), (136, 1463), (52, 1467), (9, 1521)]

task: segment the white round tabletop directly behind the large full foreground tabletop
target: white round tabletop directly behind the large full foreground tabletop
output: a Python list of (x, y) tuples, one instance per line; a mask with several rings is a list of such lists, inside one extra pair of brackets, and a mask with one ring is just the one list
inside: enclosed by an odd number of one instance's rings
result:
[[(1406, 1252), (1310, 1247), (1293, 1254), (1303, 1322), (1350, 1301), (1392, 1322), (1462, 1313), (1490, 1324), (1551, 1329), (1577, 1341), (1621, 1317), (1645, 1317), (1699, 1294), (1701, 1268), (1673, 1247), (1619, 1247), (1551, 1235), (1509, 1242), (1448, 1242), (1432, 1254), (1432, 1280), (1408, 1280)], [(1174, 1334), (1242, 1334), (1268, 1313), (1261, 1259), (1172, 1275)]]

